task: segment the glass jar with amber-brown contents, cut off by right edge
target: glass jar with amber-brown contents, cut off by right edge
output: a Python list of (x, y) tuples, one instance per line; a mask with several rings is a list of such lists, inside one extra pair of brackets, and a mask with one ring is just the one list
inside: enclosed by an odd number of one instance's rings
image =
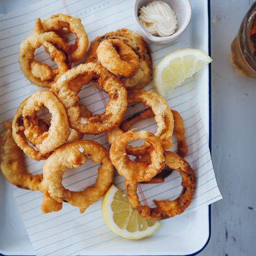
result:
[(231, 62), (241, 75), (256, 78), (256, 2), (246, 13), (231, 44)]

